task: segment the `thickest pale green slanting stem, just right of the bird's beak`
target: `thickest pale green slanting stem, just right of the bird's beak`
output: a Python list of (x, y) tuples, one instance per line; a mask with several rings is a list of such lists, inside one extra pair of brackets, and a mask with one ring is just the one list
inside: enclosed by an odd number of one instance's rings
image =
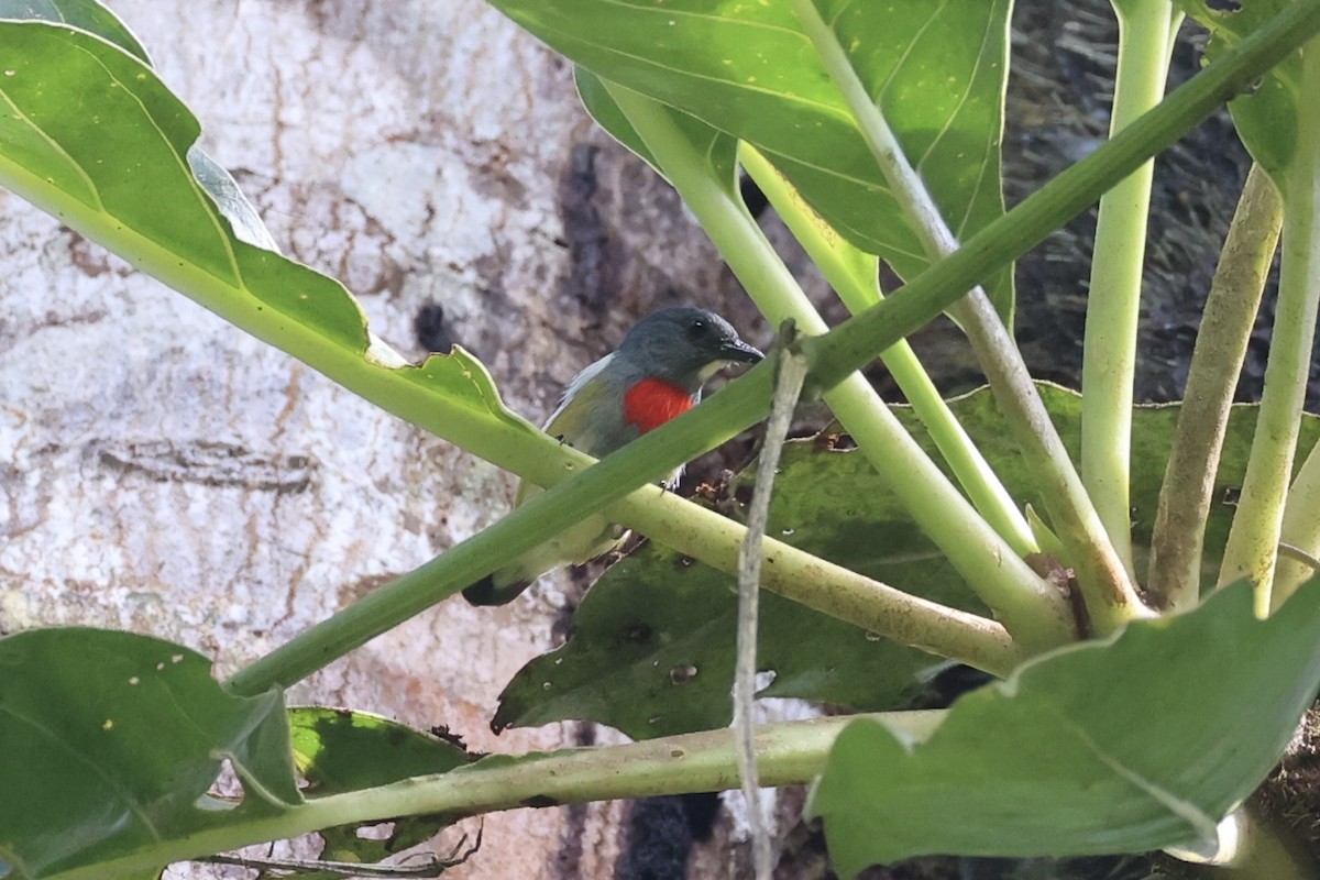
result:
[[(733, 181), (714, 175), (675, 124), (672, 111), (615, 83), (606, 82), (606, 88), (762, 313), (775, 323), (792, 319), (804, 334), (825, 334), (825, 322), (733, 195)], [(1041, 649), (1076, 636), (1063, 594), (977, 515), (861, 373), (846, 376), (824, 398), (912, 519), (1015, 641)]]

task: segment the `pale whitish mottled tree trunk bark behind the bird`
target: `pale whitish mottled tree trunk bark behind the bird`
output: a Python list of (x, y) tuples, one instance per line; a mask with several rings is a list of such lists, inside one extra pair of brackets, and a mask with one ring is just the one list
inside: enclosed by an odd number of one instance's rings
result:
[[(407, 355), (457, 342), (540, 420), (661, 305), (710, 305), (763, 340), (677, 198), (581, 110), (570, 65), (484, 4), (110, 5), (281, 248), (341, 278)], [(511, 476), (7, 191), (0, 248), (0, 629), (132, 629), (223, 676), (507, 509)], [(475, 749), (589, 740), (576, 724), (487, 727), (574, 590), (560, 575), (499, 610), (444, 603), (290, 702), (447, 726)], [(492, 815), (480, 854), (446, 876), (612, 876), (620, 810)], [(170, 876), (216, 873), (247, 876)]]

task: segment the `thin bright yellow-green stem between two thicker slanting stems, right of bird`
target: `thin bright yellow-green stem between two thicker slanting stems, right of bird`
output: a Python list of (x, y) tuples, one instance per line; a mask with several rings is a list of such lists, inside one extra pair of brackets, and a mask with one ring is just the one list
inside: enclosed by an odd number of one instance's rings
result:
[[(738, 157), (847, 310), (857, 314), (879, 302), (876, 259), (861, 255), (843, 243), (838, 232), (829, 228), (825, 220), (801, 199), (793, 185), (755, 146), (739, 144)], [(866, 263), (858, 259), (850, 260), (849, 256), (866, 256)], [(958, 424), (907, 339), (882, 351), (880, 360), (903, 389), (912, 412), (931, 433), (931, 439), (935, 441), (977, 512), (1018, 555), (1040, 553), (1022, 511), (1014, 504), (1012, 496), (999, 482), (990, 463), (981, 455), (981, 450)]]

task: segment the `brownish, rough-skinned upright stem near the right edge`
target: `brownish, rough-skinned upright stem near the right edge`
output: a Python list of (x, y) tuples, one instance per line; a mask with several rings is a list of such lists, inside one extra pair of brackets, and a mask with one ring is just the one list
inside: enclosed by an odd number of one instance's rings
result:
[[(1168, 611), (1185, 611), (1200, 595), (1205, 521), (1233, 389), (1242, 372), (1282, 223), (1279, 190), (1259, 165), (1253, 165), (1201, 313), (1187, 393), (1155, 512), (1146, 588), (1155, 604)], [(1315, 522), (1315, 508), (1309, 511), (1308, 520)]]

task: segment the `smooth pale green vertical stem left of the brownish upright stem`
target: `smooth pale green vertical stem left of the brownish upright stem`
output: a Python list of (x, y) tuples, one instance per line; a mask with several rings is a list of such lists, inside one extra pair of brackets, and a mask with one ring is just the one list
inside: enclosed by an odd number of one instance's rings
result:
[[(1168, 0), (1114, 0), (1114, 11), (1118, 70), (1110, 137), (1163, 96), (1170, 37), (1180, 17)], [(1130, 577), (1135, 577), (1129, 491), (1133, 381), (1154, 177), (1151, 160), (1100, 199), (1081, 369), (1082, 483)]]

